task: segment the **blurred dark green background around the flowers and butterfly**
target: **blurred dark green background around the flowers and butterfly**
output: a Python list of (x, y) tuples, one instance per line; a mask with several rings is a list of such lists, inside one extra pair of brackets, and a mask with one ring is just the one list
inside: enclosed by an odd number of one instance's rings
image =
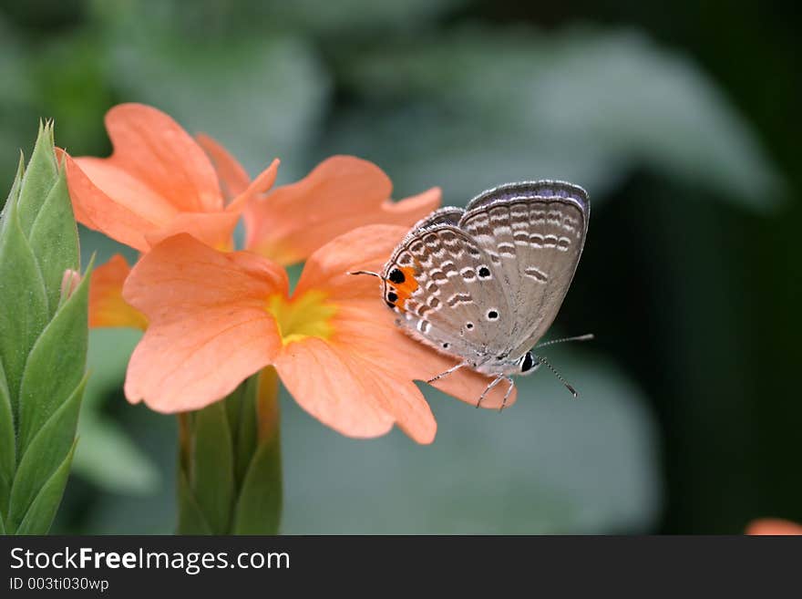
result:
[[(36, 122), (106, 155), (123, 101), (294, 181), (332, 153), (396, 197), (464, 204), (504, 181), (591, 192), (551, 336), (593, 332), (499, 414), (429, 393), (439, 431), (345, 439), (284, 397), (283, 532), (742, 532), (802, 521), (794, 5), (0, 3), (0, 181)], [(84, 232), (85, 260), (118, 250)], [(133, 257), (129, 253), (129, 257)], [(377, 300), (378, 301), (378, 300)], [(129, 406), (131, 331), (95, 331), (56, 532), (171, 532), (175, 422)]]

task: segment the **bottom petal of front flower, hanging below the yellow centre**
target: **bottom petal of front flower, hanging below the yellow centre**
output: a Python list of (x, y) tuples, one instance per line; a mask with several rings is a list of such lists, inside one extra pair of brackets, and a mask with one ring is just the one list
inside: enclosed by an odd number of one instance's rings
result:
[(417, 387), (348, 347), (309, 337), (286, 346), (275, 367), (303, 409), (344, 435), (377, 437), (397, 421), (419, 443), (435, 439), (437, 422)]

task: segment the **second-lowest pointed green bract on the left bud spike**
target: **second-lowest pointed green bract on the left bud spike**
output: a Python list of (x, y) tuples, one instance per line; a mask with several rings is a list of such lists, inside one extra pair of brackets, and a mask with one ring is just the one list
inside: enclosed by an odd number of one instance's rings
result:
[[(22, 452), (14, 486), (11, 489), (11, 504), (8, 510), (8, 522), (11, 526), (26, 517), (26, 511), (59, 468), (64, 456), (69, 454), (70, 460), (72, 459), (78, 412), (86, 384), (87, 378), (84, 377), (72, 395), (38, 430), (36, 437)], [(58, 501), (60, 497), (59, 494)], [(58, 505), (54, 507), (53, 513), (56, 513), (57, 507)]]

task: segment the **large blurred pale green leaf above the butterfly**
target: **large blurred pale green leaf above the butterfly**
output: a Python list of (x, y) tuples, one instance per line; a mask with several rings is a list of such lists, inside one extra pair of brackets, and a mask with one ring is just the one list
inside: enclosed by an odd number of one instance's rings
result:
[(347, 73), (365, 101), (329, 147), (392, 166), (405, 194), (437, 184), (464, 204), (565, 179), (598, 198), (643, 167), (756, 210), (785, 189), (715, 81), (636, 32), (464, 26), (355, 55)]

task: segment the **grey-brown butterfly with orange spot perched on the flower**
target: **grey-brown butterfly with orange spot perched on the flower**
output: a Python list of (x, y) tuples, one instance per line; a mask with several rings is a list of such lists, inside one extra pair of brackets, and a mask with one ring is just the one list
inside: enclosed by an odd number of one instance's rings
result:
[(588, 232), (587, 191), (565, 181), (524, 181), (483, 191), (465, 209), (441, 208), (417, 222), (381, 274), (396, 324), (418, 341), (459, 359), (439, 378), (468, 367), (494, 377), (478, 398), (512, 375), (541, 365), (576, 390), (537, 347), (560, 310)]

